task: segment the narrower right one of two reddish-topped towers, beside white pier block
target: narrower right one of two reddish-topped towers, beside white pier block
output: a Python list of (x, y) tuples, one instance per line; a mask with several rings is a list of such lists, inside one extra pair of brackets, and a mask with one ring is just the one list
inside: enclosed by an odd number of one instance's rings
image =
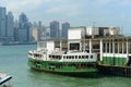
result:
[(62, 23), (61, 38), (68, 38), (68, 29), (69, 28), (70, 28), (70, 24), (68, 22)]

